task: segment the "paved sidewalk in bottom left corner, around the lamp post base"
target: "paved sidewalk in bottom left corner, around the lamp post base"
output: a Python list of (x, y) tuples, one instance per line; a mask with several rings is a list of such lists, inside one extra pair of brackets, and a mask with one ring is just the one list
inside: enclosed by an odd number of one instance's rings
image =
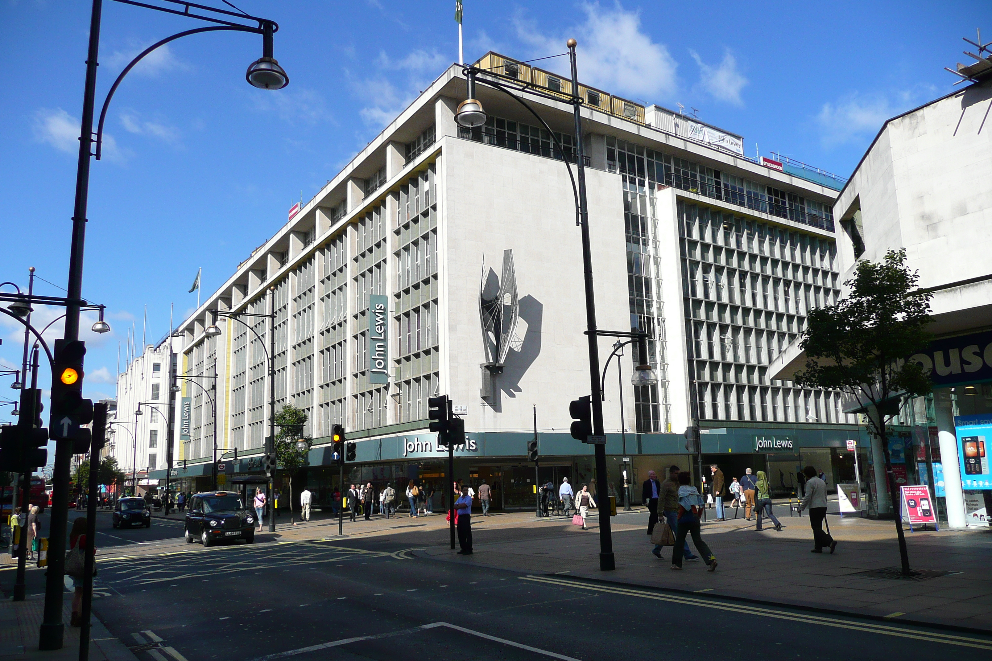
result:
[[(32, 595), (24, 602), (0, 600), (0, 659), (3, 661), (69, 661), (79, 658), (79, 627), (69, 626), (71, 596), (65, 595), (62, 621), (65, 624), (62, 649), (38, 649), (38, 632), (45, 611), (45, 596)], [(96, 618), (89, 627), (91, 661), (137, 661), (124, 643), (115, 638)]]

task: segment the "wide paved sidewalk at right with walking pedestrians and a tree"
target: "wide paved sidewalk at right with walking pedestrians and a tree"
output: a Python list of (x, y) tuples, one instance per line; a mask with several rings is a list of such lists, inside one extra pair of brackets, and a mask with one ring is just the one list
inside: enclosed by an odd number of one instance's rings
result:
[[(613, 548), (617, 568), (599, 570), (599, 535), (593, 527), (582, 532), (569, 523), (548, 523), (558, 536), (526, 541), (477, 543), (470, 558), (447, 548), (431, 547), (419, 555), (451, 562), (534, 574), (563, 573), (598, 581), (646, 588), (886, 617), (894, 621), (966, 627), (992, 631), (992, 533), (973, 531), (906, 531), (913, 569), (945, 575), (917, 580), (878, 578), (864, 572), (898, 567), (895, 524), (860, 518), (829, 516), (838, 540), (830, 555), (810, 553), (808, 518), (782, 519), (782, 532), (758, 532), (753, 521), (708, 523), (703, 538), (717, 557), (716, 572), (701, 562), (683, 563), (671, 571), (666, 560), (651, 554), (643, 525), (614, 519)], [(473, 527), (475, 527), (473, 525)], [(741, 608), (747, 603), (742, 601)]]

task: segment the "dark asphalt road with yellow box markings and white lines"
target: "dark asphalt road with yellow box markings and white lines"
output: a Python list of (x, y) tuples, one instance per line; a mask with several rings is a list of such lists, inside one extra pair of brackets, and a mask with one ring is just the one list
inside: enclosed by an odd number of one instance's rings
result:
[[(418, 556), (401, 539), (260, 535), (203, 549), (185, 543), (177, 522), (114, 530), (100, 514), (98, 523), (94, 611), (140, 661), (967, 661), (992, 652), (992, 637), (492, 570)], [(8, 589), (13, 572), (3, 574)], [(28, 593), (43, 580), (29, 572)]]

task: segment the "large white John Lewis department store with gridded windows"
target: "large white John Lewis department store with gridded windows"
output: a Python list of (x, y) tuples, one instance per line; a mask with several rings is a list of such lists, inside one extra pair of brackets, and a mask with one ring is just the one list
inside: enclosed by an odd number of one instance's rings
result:
[[(317, 489), (335, 484), (326, 448), (335, 423), (357, 441), (350, 479), (405, 481), (415, 470), (439, 479), (441, 453), (426, 433), (435, 393), (467, 411), (456, 477), (498, 476), (508, 506), (533, 497), (525, 446), (535, 410), (540, 480), (591, 476), (591, 450), (567, 433), (568, 401), (588, 382), (563, 163), (575, 159), (573, 123), (555, 96), (570, 83), (502, 55), (482, 62), (545, 94), (521, 92), (558, 141), (484, 85), (487, 124), (458, 127), (465, 81), (459, 66), (445, 70), (179, 327), (181, 373), (219, 377), (217, 430), (203, 393), (182, 393), (184, 470), (209, 461), (215, 433), (221, 450), (248, 457), (239, 470), (261, 453), (274, 332), (277, 407), (309, 415)], [(625, 347), (604, 378), (611, 481), (622, 484), (624, 457), (637, 482), (665, 463), (687, 468), (692, 418), (726, 429), (727, 444), (704, 442), (707, 457), (750, 454), (757, 466), (767, 453), (753, 437), (778, 435), (795, 451), (784, 475), (807, 450), (827, 452), (818, 461), (832, 468), (855, 419), (835, 393), (772, 380), (768, 366), (806, 311), (838, 294), (831, 205), (841, 182), (749, 160), (740, 136), (660, 106), (578, 91), (599, 325), (651, 338), (649, 356)], [(388, 323), (377, 324), (383, 307)], [(221, 317), (213, 337), (204, 331), (214, 308), (261, 316)], [(601, 340), (602, 357), (611, 345)], [(645, 360), (659, 384), (632, 386)]]

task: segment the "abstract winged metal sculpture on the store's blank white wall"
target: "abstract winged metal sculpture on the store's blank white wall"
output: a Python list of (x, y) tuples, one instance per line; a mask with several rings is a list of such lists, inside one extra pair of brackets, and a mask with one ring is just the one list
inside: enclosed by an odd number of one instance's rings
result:
[(482, 397), (492, 394), (493, 376), (503, 372), (510, 342), (520, 319), (517, 296), (517, 274), (513, 267), (513, 251), (503, 251), (503, 275), (497, 280), (492, 270), (487, 274), (482, 262), (479, 284), (479, 320), (482, 323), (482, 344), (486, 362), (482, 364)]

